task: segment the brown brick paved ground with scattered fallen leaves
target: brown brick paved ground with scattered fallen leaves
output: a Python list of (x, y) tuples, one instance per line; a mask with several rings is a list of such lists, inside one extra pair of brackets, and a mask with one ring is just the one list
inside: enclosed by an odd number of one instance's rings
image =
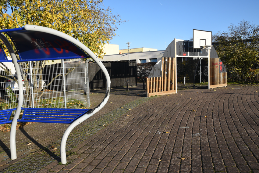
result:
[[(0, 171), (259, 172), (259, 86), (151, 98), (140, 87), (113, 90), (110, 103), (71, 132), (66, 165), (59, 164), (59, 143), (67, 125), (18, 129), (19, 158), (12, 161), (9, 132), (0, 133)], [(92, 92), (92, 106), (103, 92)]]

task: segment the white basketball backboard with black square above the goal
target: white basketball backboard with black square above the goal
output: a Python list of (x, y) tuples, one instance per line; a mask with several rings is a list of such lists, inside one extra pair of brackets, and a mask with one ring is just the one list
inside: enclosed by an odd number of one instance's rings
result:
[[(211, 45), (212, 32), (193, 29), (193, 49)], [(211, 46), (207, 49), (211, 49)]]

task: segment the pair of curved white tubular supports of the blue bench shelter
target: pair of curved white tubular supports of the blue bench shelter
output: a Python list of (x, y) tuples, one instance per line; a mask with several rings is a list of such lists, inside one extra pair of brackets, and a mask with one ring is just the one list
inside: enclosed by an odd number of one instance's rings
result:
[[(105, 94), (105, 97), (104, 97), (103, 101), (97, 107), (95, 107), (94, 109), (90, 110), (89, 112), (87, 112), (83, 116), (81, 116), (78, 119), (76, 119), (73, 123), (71, 123), (69, 125), (69, 127), (64, 132), (64, 135), (62, 137), (61, 144), (60, 144), (60, 154), (61, 154), (61, 163), (62, 164), (66, 164), (66, 141), (67, 141), (69, 133), (78, 124), (82, 123), (87, 118), (91, 117), (96, 112), (101, 110), (101, 108), (103, 108), (103, 106), (105, 106), (105, 104), (108, 102), (108, 99), (109, 99), (109, 96), (110, 96), (111, 80), (110, 80), (108, 71), (106, 70), (106, 68), (103, 65), (103, 63), (101, 62), (101, 60), (90, 49), (88, 49), (85, 45), (83, 45), (83, 43), (81, 43), (80, 41), (76, 40), (75, 38), (73, 38), (73, 37), (71, 37), (71, 36), (69, 36), (69, 35), (67, 35), (65, 33), (62, 33), (60, 31), (57, 31), (57, 30), (46, 28), (46, 27), (41, 27), (41, 26), (36, 26), (36, 25), (25, 25), (24, 29), (27, 30), (27, 31), (40, 31), (40, 32), (45, 32), (45, 33), (53, 34), (53, 35), (56, 35), (58, 37), (64, 38), (64, 39), (72, 42), (73, 44), (75, 44), (76, 46), (81, 48), (83, 51), (85, 51), (92, 59), (94, 59), (94, 61), (98, 64), (98, 66), (103, 71), (103, 73), (105, 75), (105, 78), (106, 78), (107, 89), (106, 89), (106, 94)], [(18, 78), (18, 85), (19, 85), (18, 107), (16, 109), (16, 113), (15, 113), (13, 121), (12, 121), (11, 134), (10, 134), (11, 159), (14, 160), (14, 159), (17, 158), (17, 156), (16, 156), (16, 145), (15, 145), (15, 142), (16, 142), (15, 141), (15, 138), (16, 138), (16, 124), (17, 124), (17, 119), (20, 116), (21, 107), (22, 107), (22, 104), (23, 104), (22, 75), (21, 75), (21, 72), (20, 72), (19, 64), (17, 63), (17, 58), (15, 56), (15, 53), (14, 53), (14, 51), (12, 49), (11, 44), (9, 43), (8, 39), (4, 36), (4, 34), (1, 33), (0, 37), (4, 41), (5, 45), (8, 48), (8, 51), (11, 54), (12, 62), (14, 63), (14, 66), (15, 66), (15, 69), (16, 69), (17, 78)]]

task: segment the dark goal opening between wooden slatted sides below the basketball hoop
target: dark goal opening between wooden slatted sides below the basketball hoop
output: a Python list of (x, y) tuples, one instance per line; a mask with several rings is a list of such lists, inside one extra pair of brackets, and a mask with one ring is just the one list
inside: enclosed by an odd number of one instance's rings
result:
[(177, 89), (208, 87), (208, 58), (178, 57), (176, 63)]

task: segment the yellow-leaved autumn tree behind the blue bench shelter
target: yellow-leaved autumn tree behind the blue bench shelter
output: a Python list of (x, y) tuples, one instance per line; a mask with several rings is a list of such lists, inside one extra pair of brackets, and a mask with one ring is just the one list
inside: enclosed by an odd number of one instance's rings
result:
[[(104, 54), (103, 45), (115, 37), (116, 24), (122, 22), (121, 16), (112, 14), (111, 8), (105, 8), (102, 0), (0, 0), (0, 6), (1, 29), (25, 24), (52, 28), (79, 40), (99, 57)], [(32, 64), (36, 69), (33, 81), (40, 74), (39, 86), (45, 64), (45, 61)], [(27, 63), (23, 63), (23, 67), (29, 69)], [(23, 76), (25, 83), (28, 83), (27, 74), (28, 71)], [(34, 92), (40, 90), (35, 87)]]

